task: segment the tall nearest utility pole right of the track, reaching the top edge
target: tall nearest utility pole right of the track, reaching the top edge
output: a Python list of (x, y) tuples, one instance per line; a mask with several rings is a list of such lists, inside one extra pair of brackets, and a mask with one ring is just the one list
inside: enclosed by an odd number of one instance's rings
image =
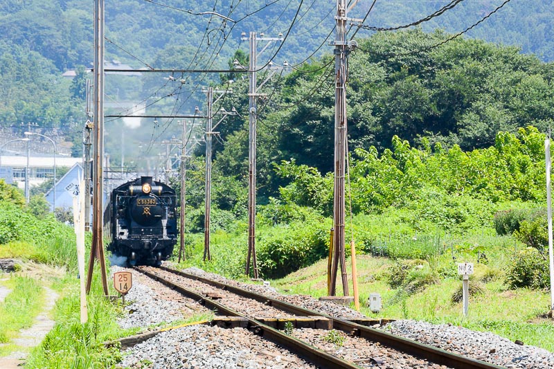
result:
[[(334, 259), (331, 269), (330, 295), (336, 294), (338, 264), (341, 264), (341, 277), (344, 296), (348, 296), (348, 277), (346, 276), (345, 256), (345, 160), (346, 160), (346, 79), (348, 75), (348, 53), (355, 42), (350, 44), (346, 40), (346, 22), (354, 19), (348, 18), (357, 1), (346, 5), (346, 0), (337, 0), (337, 28), (336, 37), (332, 45), (334, 48), (335, 64), (335, 112), (334, 112), (334, 195), (333, 195), (333, 224), (334, 224)], [(356, 19), (357, 20), (357, 19)]]

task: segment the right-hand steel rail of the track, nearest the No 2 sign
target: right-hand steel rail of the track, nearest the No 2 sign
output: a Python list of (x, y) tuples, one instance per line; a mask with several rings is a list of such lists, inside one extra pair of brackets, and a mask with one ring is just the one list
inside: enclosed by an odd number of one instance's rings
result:
[(242, 289), (240, 287), (234, 287), (222, 282), (216, 282), (215, 280), (210, 280), (208, 278), (185, 273), (184, 271), (177, 271), (175, 269), (170, 269), (168, 267), (162, 266), (159, 268), (164, 271), (168, 271), (170, 273), (175, 273), (185, 278), (199, 280), (200, 282), (204, 282), (204, 283), (207, 283), (208, 285), (212, 285), (214, 287), (224, 289), (226, 291), (232, 292), (233, 294), (238, 294), (239, 296), (242, 296), (242, 297), (252, 298), (253, 300), (257, 300), (260, 303), (265, 303), (266, 305), (275, 307), (276, 309), (281, 309), (284, 312), (288, 312), (290, 314), (299, 315), (299, 316), (323, 316), (325, 318), (332, 320), (334, 329), (341, 330), (343, 332), (352, 334), (354, 336), (359, 336), (361, 338), (367, 339), (368, 341), (379, 342), (382, 345), (388, 346), (389, 348), (393, 348), (395, 350), (412, 354), (415, 357), (427, 359), (432, 363), (446, 365), (456, 369), (472, 369), (472, 368), (501, 369), (503, 368), (501, 366), (496, 366), (491, 363), (486, 363), (485, 361), (472, 359), (470, 357), (465, 357), (459, 354), (454, 354), (453, 352), (441, 350), (440, 348), (435, 348), (434, 346), (431, 346), (431, 345), (425, 345), (424, 343), (419, 343), (411, 339), (406, 339), (401, 336), (396, 336), (395, 334), (390, 334), (380, 330), (375, 330), (373, 328), (366, 327), (365, 325), (353, 323), (345, 319), (335, 318), (334, 316), (330, 316), (328, 314), (315, 312), (310, 309), (305, 309), (303, 307), (285, 303), (283, 301), (276, 300), (275, 298), (270, 298), (268, 296), (256, 294), (255, 292), (247, 291), (246, 289)]

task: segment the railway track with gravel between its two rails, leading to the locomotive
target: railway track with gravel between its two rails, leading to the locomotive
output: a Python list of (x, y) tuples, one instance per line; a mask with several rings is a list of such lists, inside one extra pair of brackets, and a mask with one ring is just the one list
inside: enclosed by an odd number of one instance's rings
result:
[[(382, 368), (398, 368), (400, 366), (417, 366), (418, 368), (501, 368), (484, 361), (440, 350), (343, 318), (315, 312), (304, 307), (285, 303), (276, 298), (184, 273), (183, 271), (167, 267), (136, 267), (134, 269), (175, 291), (179, 291), (188, 298), (197, 300), (208, 309), (213, 309), (224, 316), (236, 317), (235, 326), (246, 327), (255, 334), (282, 345), (287, 350), (321, 368), (373, 366)], [(216, 319), (216, 321), (219, 321), (220, 325), (230, 324), (229, 321), (224, 323), (221, 319)], [(283, 327), (287, 323), (289, 327), (294, 326), (303, 329), (299, 329), (298, 332), (294, 330), (294, 334), (285, 334)], [(321, 337), (323, 334), (321, 332), (322, 328), (343, 332), (343, 339), (347, 338), (349, 344), (358, 353), (367, 352), (367, 357), (348, 360), (338, 357), (341, 354), (345, 356), (343, 352), (337, 356), (337, 352), (332, 354), (328, 352), (329, 349), (322, 350), (314, 347), (315, 342), (318, 341), (314, 339), (314, 336)], [(301, 339), (296, 337), (301, 337)], [(309, 342), (314, 343), (314, 345)], [(366, 348), (368, 345), (376, 347)], [(401, 362), (404, 365), (400, 365)]]

